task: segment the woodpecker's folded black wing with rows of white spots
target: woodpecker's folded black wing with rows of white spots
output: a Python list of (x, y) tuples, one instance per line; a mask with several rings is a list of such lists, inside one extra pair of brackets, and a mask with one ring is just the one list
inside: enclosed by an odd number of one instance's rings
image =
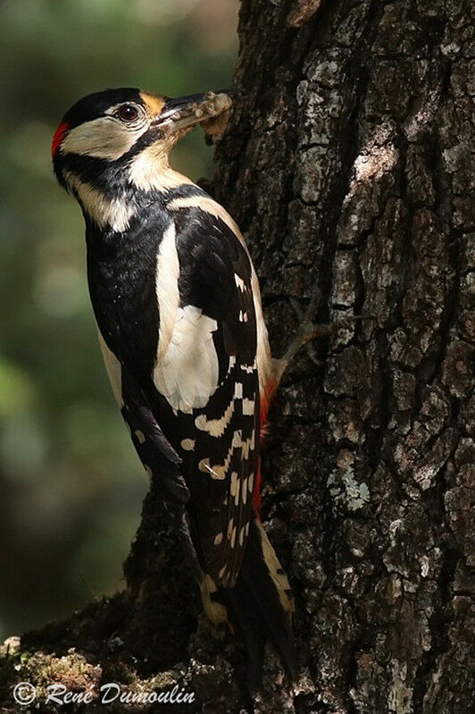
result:
[[(183, 458), (191, 491), (192, 534), (205, 572), (232, 586), (246, 549), (259, 461), (259, 384), (252, 266), (246, 248), (221, 218), (181, 208), (175, 218), (179, 305), (215, 321), (217, 388), (191, 414), (163, 424)], [(172, 412), (172, 410), (171, 410)], [(167, 428), (169, 432), (167, 432)]]

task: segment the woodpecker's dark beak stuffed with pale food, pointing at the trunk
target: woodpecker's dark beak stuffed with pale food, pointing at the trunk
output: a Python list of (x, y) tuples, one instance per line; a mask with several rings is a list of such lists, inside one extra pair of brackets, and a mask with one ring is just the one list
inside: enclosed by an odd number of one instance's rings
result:
[(217, 93), (190, 94), (177, 99), (167, 98), (154, 125), (167, 133), (187, 129), (229, 110), (234, 96), (236, 92), (229, 89)]

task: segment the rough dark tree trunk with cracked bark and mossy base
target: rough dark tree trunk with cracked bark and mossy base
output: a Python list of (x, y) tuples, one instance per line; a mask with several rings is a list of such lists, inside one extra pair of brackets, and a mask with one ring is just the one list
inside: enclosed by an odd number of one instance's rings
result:
[[(302, 670), (289, 687), (270, 655), (255, 712), (471, 709), (471, 13), (469, 0), (241, 7), (242, 96), (214, 190), (253, 254), (273, 351), (296, 322), (290, 297), (305, 307), (317, 288), (319, 322), (371, 315), (317, 345), (320, 366), (303, 350), (271, 413), (262, 517), (296, 593)], [(183, 711), (251, 711), (231, 641), (201, 616), (196, 632), (153, 493), (125, 575), (112, 601), (11, 643), (4, 683), (30, 676), (41, 693), (47, 664), (79, 689), (177, 681), (199, 700)]]

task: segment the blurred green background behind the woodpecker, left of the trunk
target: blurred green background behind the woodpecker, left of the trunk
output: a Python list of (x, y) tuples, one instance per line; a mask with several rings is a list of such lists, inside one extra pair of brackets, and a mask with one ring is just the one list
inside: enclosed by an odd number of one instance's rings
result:
[[(121, 589), (148, 487), (96, 343), (54, 130), (102, 88), (229, 86), (236, 27), (237, 0), (0, 4), (0, 638)], [(173, 159), (195, 180), (212, 175), (199, 130)]]

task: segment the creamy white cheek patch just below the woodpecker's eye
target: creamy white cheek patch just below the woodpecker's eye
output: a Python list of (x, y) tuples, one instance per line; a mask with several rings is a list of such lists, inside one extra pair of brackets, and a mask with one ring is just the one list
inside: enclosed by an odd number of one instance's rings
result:
[(116, 161), (127, 154), (147, 128), (147, 123), (131, 128), (112, 117), (101, 116), (71, 129), (63, 139), (61, 152)]

